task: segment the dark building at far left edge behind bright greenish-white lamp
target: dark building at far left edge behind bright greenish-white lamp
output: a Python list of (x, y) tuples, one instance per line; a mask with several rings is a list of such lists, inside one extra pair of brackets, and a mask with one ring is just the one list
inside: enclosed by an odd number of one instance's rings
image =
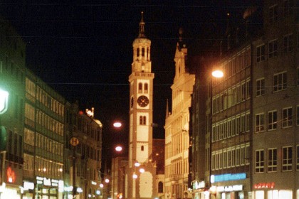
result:
[(21, 198), (26, 44), (4, 18), (0, 24), (0, 198)]

